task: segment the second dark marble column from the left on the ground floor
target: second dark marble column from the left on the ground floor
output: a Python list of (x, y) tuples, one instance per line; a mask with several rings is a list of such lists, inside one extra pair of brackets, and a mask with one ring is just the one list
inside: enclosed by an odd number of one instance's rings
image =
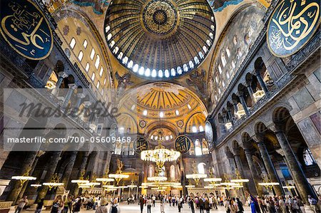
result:
[[(56, 152), (52, 152), (51, 158), (48, 161), (48, 170), (46, 173), (46, 176), (44, 177), (44, 182), (51, 182), (52, 177), (54, 176), (54, 173), (56, 171), (56, 167), (58, 165), (58, 162), (60, 160), (60, 155), (61, 152), (56, 151)], [(48, 186), (42, 186), (38, 196), (36, 198), (36, 202), (39, 202), (40, 199), (46, 197), (46, 194), (48, 192), (49, 187)]]

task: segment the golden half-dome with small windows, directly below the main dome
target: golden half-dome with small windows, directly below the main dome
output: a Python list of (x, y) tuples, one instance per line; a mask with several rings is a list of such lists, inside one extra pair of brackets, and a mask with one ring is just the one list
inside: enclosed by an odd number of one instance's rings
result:
[[(207, 116), (205, 105), (195, 93), (173, 83), (149, 83), (128, 90), (119, 105), (127, 115), (117, 119), (118, 124), (140, 133), (153, 132), (160, 126), (175, 134), (193, 132), (194, 126), (205, 125)], [(131, 123), (138, 126), (128, 126)]]

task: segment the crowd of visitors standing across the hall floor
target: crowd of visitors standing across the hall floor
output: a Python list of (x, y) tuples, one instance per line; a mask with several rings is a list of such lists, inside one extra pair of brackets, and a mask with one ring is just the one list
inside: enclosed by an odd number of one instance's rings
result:
[[(190, 209), (190, 212), (195, 213), (195, 210), (200, 213), (209, 213), (210, 209), (218, 209), (221, 206), (226, 213), (243, 213), (244, 204), (248, 204), (251, 213), (305, 213), (305, 205), (300, 197), (291, 197), (290, 195), (283, 196), (265, 196), (258, 197), (245, 192), (246, 200), (243, 202), (238, 197), (215, 197), (213, 194), (203, 194), (197, 196), (178, 196), (174, 194), (148, 194), (136, 197), (131, 195), (127, 199), (128, 204), (134, 204), (138, 200), (138, 205), (141, 207), (141, 213), (146, 207), (147, 213), (151, 213), (152, 207), (156, 206), (156, 201), (160, 202), (161, 212), (164, 213), (165, 205), (177, 208), (181, 212), (184, 204)], [(314, 213), (320, 213), (321, 210), (321, 195), (318, 199), (308, 196), (310, 207)], [(79, 213), (81, 209), (96, 210), (96, 213), (120, 213), (121, 209), (118, 206), (119, 202), (123, 202), (123, 197), (113, 198), (111, 196), (79, 196), (58, 195), (51, 207), (51, 213)], [(19, 200), (15, 213), (20, 213), (21, 209), (29, 203), (27, 197)], [(109, 205), (109, 208), (107, 206)], [(44, 199), (36, 205), (35, 213), (41, 213), (44, 207)], [(109, 209), (109, 210), (108, 210)]]

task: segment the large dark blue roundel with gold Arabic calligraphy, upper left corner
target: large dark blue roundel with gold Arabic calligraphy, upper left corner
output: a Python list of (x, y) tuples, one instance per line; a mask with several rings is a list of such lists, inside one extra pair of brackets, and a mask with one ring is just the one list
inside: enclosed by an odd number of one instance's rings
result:
[(41, 60), (53, 46), (51, 28), (34, 3), (1, 0), (1, 35), (25, 58)]

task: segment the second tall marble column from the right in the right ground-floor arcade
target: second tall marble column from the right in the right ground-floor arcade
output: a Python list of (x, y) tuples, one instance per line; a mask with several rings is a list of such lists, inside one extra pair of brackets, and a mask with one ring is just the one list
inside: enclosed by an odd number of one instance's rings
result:
[(265, 147), (265, 144), (263, 142), (263, 135), (257, 135), (256, 136), (258, 139), (258, 148), (260, 150), (261, 157), (263, 159), (265, 169), (267, 170), (267, 174), (270, 177), (270, 180), (272, 182), (278, 182), (280, 185), (274, 186), (273, 189), (275, 191), (275, 194), (277, 195), (282, 195), (284, 194), (283, 189), (282, 189), (282, 183), (280, 182), (279, 177), (277, 176), (277, 172), (275, 170), (275, 167), (272, 163), (272, 160), (270, 158), (269, 153), (267, 152), (267, 149)]

